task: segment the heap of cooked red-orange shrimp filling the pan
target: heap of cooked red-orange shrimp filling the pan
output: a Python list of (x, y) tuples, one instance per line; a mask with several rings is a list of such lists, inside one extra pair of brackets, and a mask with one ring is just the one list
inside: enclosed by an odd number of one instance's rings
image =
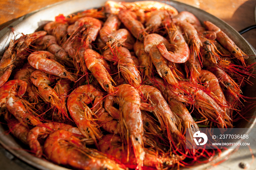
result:
[(156, 1), (55, 19), (11, 40), (0, 61), (2, 123), (31, 154), (84, 170), (172, 169), (220, 154), (185, 143), (187, 128), (242, 117), (252, 65), (220, 28)]

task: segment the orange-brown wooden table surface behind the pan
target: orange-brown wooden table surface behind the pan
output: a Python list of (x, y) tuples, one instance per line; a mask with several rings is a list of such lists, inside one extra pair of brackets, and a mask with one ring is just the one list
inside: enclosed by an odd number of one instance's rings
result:
[[(20, 16), (64, 0), (0, 0), (0, 29)], [(254, 9), (256, 0), (177, 0), (203, 9), (224, 20), (237, 31), (255, 24)], [(242, 36), (256, 48), (256, 29)]]

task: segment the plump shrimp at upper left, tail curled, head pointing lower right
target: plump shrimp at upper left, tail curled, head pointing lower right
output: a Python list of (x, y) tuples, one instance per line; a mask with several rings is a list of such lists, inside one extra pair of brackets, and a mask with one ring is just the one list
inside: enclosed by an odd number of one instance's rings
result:
[(29, 55), (27, 60), (35, 69), (75, 81), (75, 78), (71, 73), (69, 73), (59, 62), (49, 59), (51, 57), (54, 57), (54, 55), (48, 51), (35, 51)]

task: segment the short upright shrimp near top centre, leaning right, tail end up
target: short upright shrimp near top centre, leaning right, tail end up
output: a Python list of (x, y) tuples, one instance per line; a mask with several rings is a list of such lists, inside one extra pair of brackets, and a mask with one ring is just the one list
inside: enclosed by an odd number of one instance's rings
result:
[(106, 43), (109, 40), (109, 35), (113, 32), (118, 30), (121, 21), (118, 19), (117, 15), (109, 15), (101, 30), (99, 30), (99, 36), (101, 40)]

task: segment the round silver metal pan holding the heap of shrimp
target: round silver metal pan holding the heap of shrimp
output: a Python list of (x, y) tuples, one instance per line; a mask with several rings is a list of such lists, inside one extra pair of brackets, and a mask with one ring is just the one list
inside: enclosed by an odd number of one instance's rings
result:
[[(0, 56), (3, 55), (5, 47), (9, 45), (11, 39), (17, 39), (23, 34), (30, 34), (36, 30), (42, 29), (44, 24), (49, 21), (54, 20), (54, 17), (62, 13), (64, 16), (69, 14), (83, 11), (84, 9), (97, 8), (104, 5), (106, 0), (72, 0), (64, 1), (62, 3), (55, 4), (53, 6), (44, 8), (35, 12), (33, 14), (26, 15), (19, 20), (12, 23), (10, 26), (14, 28), (14, 31), (10, 28), (4, 28), (0, 31)], [(129, 1), (129, 0), (128, 0)], [(240, 47), (246, 54), (250, 57), (247, 60), (248, 63), (254, 63), (255, 53), (251, 46), (246, 42), (246, 40), (231, 26), (222, 21), (221, 19), (216, 18), (215, 16), (202, 11), (198, 8), (192, 7), (187, 4), (183, 4), (177, 1), (167, 1), (167, 4), (172, 5), (178, 11), (189, 11), (192, 12), (201, 22), (208, 20), (218, 27), (220, 27), (229, 37)], [(243, 94), (248, 97), (256, 97), (256, 80), (251, 80), (254, 85), (245, 88)], [(246, 117), (252, 117), (256, 115), (256, 107), (248, 111)], [(248, 123), (246, 120), (241, 120), (239, 124), (236, 125), (237, 128), (252, 128), (256, 120), (253, 118), (248, 119), (251, 123)], [(0, 125), (0, 143), (16, 157), (22, 159), (23, 161), (29, 163), (30, 165), (42, 169), (42, 170), (67, 170), (67, 168), (54, 165), (43, 159), (38, 159), (33, 155), (30, 155), (29, 152), (26, 152), (11, 135), (6, 135), (5, 131), (7, 129)], [(240, 134), (248, 134), (248, 130), (239, 132)], [(230, 148), (222, 152), (218, 157), (215, 157), (211, 162), (203, 165), (195, 165), (195, 169), (205, 169), (221, 161), (227, 155), (234, 151), (234, 148)]]

